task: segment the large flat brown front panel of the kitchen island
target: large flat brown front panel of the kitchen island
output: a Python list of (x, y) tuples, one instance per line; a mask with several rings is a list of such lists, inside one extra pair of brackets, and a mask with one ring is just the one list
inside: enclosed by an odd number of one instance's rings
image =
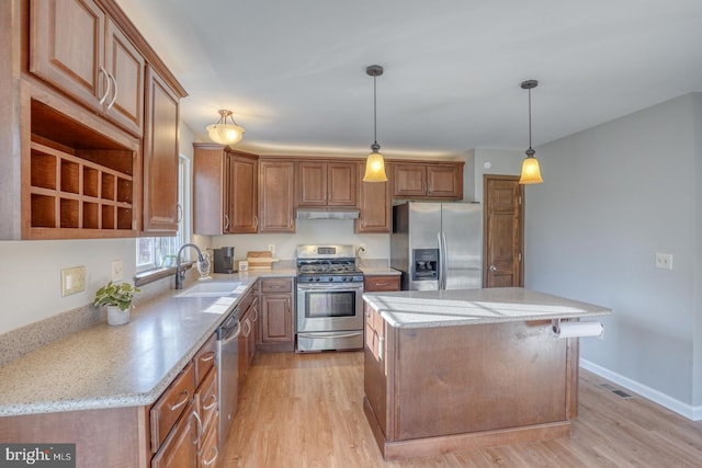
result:
[(397, 440), (565, 421), (566, 340), (551, 322), (401, 329)]

